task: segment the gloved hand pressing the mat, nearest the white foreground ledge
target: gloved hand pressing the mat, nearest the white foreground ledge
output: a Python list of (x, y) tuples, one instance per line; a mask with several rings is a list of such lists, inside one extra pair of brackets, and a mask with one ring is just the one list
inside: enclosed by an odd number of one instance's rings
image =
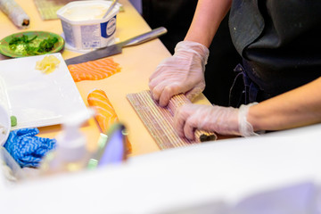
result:
[(213, 131), (221, 135), (257, 136), (247, 121), (251, 105), (239, 109), (218, 105), (185, 104), (175, 112), (174, 127), (181, 137), (193, 140), (194, 130)]

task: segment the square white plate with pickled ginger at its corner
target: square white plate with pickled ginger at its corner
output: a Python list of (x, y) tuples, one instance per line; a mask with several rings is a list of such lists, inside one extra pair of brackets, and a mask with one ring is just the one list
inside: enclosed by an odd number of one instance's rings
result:
[(52, 55), (60, 64), (49, 74), (36, 70), (44, 55), (0, 61), (0, 103), (17, 118), (12, 129), (60, 124), (71, 112), (86, 109), (62, 54)]

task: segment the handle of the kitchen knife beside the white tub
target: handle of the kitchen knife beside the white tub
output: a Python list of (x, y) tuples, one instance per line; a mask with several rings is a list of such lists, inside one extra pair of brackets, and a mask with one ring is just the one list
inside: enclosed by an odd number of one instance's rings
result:
[(123, 44), (124, 47), (139, 45), (139, 44), (142, 44), (142, 43), (147, 42), (149, 40), (152, 40), (154, 38), (161, 37), (161, 35), (166, 34), (166, 33), (167, 33), (167, 29), (165, 29), (164, 27), (160, 27), (157, 29), (152, 29), (151, 31), (141, 34), (137, 37), (129, 38), (128, 40), (121, 42), (121, 44)]

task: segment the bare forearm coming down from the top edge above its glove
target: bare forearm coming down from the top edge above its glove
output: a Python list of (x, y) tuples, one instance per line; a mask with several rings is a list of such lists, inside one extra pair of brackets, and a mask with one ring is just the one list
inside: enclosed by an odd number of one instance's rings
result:
[(184, 40), (210, 47), (220, 22), (231, 7), (232, 0), (199, 0), (193, 21)]

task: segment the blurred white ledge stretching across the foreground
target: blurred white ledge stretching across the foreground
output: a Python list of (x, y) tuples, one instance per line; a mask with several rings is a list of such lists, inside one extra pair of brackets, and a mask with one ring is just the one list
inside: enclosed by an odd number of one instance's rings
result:
[(119, 166), (29, 181), (0, 193), (0, 213), (155, 213), (321, 177), (321, 124), (142, 155)]

